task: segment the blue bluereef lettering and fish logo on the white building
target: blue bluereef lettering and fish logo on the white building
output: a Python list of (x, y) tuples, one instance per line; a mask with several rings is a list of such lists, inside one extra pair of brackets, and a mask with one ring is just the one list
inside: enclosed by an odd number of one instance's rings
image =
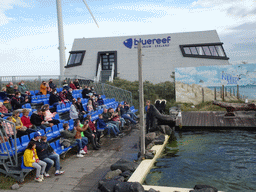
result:
[(168, 36), (167, 38), (156, 38), (156, 39), (136, 39), (136, 38), (129, 38), (126, 39), (123, 44), (129, 48), (138, 48), (138, 43), (142, 44), (142, 48), (151, 48), (151, 47), (169, 47), (171, 41), (171, 37)]

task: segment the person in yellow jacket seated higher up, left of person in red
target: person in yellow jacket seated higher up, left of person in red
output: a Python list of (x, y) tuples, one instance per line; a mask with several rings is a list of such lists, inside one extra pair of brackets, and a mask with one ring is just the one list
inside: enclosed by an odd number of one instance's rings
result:
[(15, 124), (18, 138), (22, 137), (23, 135), (29, 135), (30, 133), (34, 132), (31, 129), (27, 129), (27, 127), (23, 125), (20, 118), (20, 112), (17, 110), (13, 111), (12, 122)]

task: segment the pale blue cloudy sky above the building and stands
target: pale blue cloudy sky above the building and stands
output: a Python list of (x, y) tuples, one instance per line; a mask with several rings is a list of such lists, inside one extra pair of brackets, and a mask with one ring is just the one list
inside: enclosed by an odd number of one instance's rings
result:
[[(62, 0), (75, 38), (217, 30), (231, 64), (256, 63), (256, 0)], [(0, 1), (0, 76), (59, 75), (56, 0)]]

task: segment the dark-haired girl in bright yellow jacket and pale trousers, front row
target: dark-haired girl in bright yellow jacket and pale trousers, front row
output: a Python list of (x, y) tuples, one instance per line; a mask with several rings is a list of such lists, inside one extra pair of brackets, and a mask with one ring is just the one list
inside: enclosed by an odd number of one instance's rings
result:
[(36, 178), (35, 181), (42, 182), (43, 174), (45, 172), (46, 163), (39, 160), (36, 152), (36, 143), (30, 141), (24, 152), (24, 165), (26, 167), (34, 167), (36, 169)]

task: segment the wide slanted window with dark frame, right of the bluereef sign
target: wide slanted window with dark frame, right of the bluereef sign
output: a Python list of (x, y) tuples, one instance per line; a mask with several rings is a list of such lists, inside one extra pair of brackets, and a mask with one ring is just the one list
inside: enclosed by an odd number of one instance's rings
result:
[(223, 43), (188, 44), (180, 45), (184, 57), (228, 60), (222, 47)]

